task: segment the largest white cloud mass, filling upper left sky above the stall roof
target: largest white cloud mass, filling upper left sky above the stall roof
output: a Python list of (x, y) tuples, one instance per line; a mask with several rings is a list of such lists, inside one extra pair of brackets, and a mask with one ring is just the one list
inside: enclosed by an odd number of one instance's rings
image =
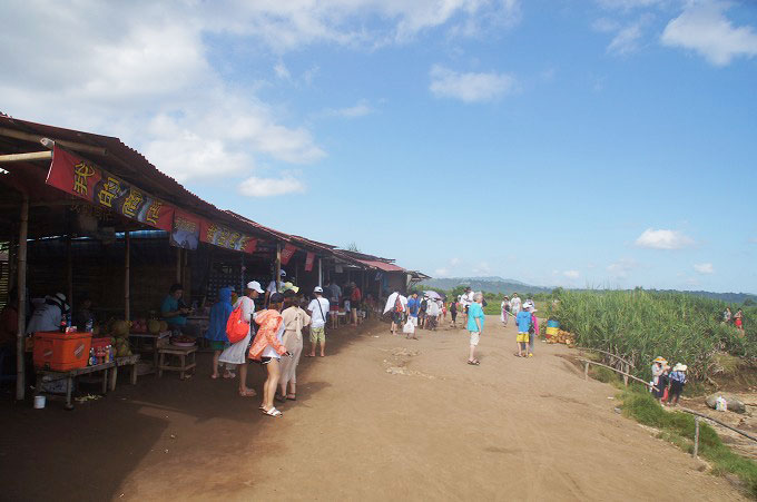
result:
[[(61, 0), (55, 9), (8, 0), (0, 3), (0, 47), (13, 50), (0, 51), (0, 96), (14, 117), (118, 136), (181, 181), (224, 174), (239, 183), (262, 161), (312, 164), (326, 152), (297, 126), (301, 117), (263, 101), (257, 83), (227, 83), (210, 60), (209, 37), (277, 57), (271, 77), (292, 79), (281, 55), (309, 43), (370, 50), (468, 21), (499, 29), (518, 16), (517, 0), (226, 0), (180, 8)], [(317, 72), (312, 66), (303, 81)], [(341, 112), (371, 109), (358, 104)], [(286, 177), (260, 179), (273, 191), (302, 189)]]

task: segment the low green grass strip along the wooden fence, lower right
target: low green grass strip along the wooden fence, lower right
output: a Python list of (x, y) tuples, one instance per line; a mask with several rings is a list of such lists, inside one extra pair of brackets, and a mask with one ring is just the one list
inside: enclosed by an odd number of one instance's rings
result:
[[(660, 430), (659, 437), (691, 453), (694, 449), (694, 415), (666, 412), (651, 394), (638, 388), (620, 393), (623, 415)], [(757, 499), (757, 462), (734, 453), (706, 421), (699, 422), (699, 455), (712, 464), (715, 474), (730, 473), (741, 480), (749, 494)]]

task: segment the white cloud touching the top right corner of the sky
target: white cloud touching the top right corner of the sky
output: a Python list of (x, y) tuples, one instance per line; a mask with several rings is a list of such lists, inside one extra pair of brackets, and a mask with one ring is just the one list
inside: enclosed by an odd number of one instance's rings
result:
[(691, 49), (715, 66), (726, 66), (739, 56), (757, 56), (757, 32), (750, 26), (734, 27), (725, 16), (728, 7), (722, 1), (689, 1), (665, 28), (662, 43)]

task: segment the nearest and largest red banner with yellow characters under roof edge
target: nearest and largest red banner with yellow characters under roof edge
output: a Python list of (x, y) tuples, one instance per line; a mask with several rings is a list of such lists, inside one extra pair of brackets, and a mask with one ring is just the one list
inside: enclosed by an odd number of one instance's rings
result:
[(173, 230), (173, 206), (57, 146), (46, 183), (129, 219)]

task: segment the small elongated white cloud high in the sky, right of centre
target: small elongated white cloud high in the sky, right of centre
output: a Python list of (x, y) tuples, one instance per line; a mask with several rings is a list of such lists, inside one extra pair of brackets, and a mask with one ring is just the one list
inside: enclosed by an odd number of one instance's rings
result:
[(455, 98), (464, 102), (493, 101), (515, 89), (509, 73), (460, 73), (439, 65), (431, 68), (431, 92), (438, 98)]

